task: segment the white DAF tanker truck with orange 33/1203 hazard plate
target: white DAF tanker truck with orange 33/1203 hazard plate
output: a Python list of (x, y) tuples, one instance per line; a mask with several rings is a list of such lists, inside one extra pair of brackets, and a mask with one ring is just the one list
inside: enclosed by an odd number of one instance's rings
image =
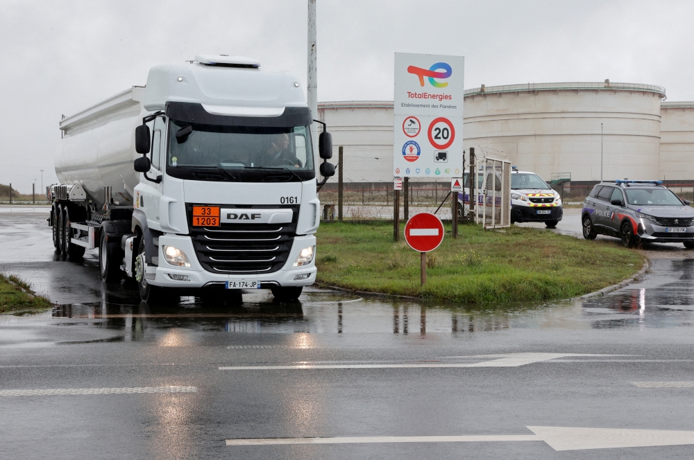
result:
[(294, 300), (316, 279), (316, 186), (335, 174), (323, 124), (316, 184), (312, 122), (298, 78), (255, 60), (153, 67), (146, 87), (60, 121), (53, 244), (71, 260), (99, 248), (101, 277), (134, 278), (148, 303)]

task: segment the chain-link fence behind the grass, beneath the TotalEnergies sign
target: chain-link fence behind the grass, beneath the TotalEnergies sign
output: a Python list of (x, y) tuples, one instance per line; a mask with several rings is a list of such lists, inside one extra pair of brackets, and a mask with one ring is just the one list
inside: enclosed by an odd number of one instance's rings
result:
[[(337, 161), (335, 161), (337, 160)], [(323, 221), (348, 222), (393, 221), (393, 159), (373, 157), (366, 152), (339, 155), (332, 160), (335, 176), (319, 193)], [(400, 219), (416, 213), (436, 213), (441, 220), (451, 220), (452, 195), (449, 177), (409, 177), (400, 191)], [(443, 204), (442, 204), (443, 203)], [(440, 206), (440, 209), (439, 209)]]

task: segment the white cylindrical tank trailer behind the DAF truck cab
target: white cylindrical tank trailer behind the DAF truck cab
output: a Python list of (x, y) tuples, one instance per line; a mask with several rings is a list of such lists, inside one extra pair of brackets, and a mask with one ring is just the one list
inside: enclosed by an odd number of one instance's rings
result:
[(56, 154), (60, 184), (81, 185), (97, 209), (111, 187), (117, 204), (133, 203), (139, 173), (133, 169), (135, 127), (146, 114), (140, 100), (144, 88), (133, 87), (60, 121), (62, 139)]

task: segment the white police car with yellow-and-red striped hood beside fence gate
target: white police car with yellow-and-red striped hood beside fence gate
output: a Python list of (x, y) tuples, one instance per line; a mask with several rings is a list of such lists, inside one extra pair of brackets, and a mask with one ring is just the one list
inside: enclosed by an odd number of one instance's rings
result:
[(511, 224), (514, 222), (545, 222), (557, 227), (563, 215), (561, 196), (539, 175), (529, 171), (511, 170)]

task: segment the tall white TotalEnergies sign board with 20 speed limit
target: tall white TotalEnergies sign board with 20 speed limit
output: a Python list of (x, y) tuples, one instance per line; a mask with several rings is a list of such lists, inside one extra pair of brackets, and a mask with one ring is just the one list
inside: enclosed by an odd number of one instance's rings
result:
[(464, 57), (395, 53), (393, 177), (459, 177)]

